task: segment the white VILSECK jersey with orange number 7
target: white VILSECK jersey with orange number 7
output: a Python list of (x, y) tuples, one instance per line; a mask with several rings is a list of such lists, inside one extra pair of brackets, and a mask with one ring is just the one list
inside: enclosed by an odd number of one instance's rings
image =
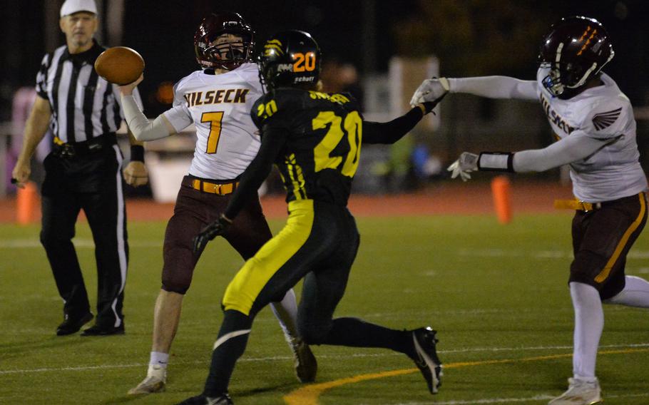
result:
[(237, 178), (257, 155), (260, 136), (250, 109), (262, 96), (255, 63), (210, 75), (195, 71), (178, 81), (173, 108), (165, 111), (177, 132), (196, 127), (190, 175), (213, 180)]

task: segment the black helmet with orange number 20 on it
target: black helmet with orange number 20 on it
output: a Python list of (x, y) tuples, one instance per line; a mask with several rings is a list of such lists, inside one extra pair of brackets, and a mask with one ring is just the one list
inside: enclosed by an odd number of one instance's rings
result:
[(282, 86), (315, 85), (320, 77), (320, 46), (311, 34), (290, 30), (268, 39), (257, 63), (269, 91)]

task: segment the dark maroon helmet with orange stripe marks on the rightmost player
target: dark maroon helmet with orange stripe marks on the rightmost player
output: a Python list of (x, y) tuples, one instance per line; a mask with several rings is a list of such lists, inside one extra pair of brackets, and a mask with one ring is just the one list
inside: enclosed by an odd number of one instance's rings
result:
[(543, 87), (553, 96), (571, 98), (614, 54), (608, 33), (596, 19), (561, 19), (543, 39), (538, 54), (540, 67), (550, 69)]

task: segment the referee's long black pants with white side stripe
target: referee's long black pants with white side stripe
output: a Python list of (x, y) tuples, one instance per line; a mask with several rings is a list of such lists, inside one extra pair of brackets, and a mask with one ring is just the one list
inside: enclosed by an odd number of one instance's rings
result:
[(58, 293), (65, 302), (63, 312), (78, 317), (90, 310), (71, 241), (78, 214), (83, 209), (95, 242), (96, 324), (101, 327), (118, 327), (123, 322), (128, 242), (122, 160), (117, 145), (106, 145), (101, 150), (71, 158), (50, 154), (44, 162), (41, 243)]

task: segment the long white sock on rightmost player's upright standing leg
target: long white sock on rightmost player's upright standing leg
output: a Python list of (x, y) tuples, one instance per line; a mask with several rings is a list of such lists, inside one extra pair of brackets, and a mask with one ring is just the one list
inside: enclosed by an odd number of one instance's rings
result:
[(597, 289), (581, 282), (570, 283), (575, 309), (573, 374), (576, 379), (595, 378), (599, 339), (604, 329), (604, 312)]

